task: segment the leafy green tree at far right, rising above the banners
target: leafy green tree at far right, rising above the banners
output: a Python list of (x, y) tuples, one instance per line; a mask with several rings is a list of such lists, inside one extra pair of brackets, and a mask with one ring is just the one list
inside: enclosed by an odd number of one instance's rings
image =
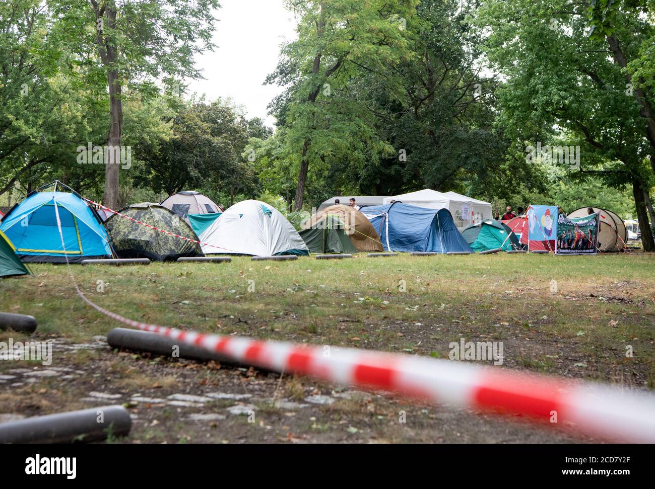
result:
[[(605, 41), (589, 37), (587, 2), (489, 0), (475, 15), (487, 33), (485, 50), (506, 78), (498, 90), (498, 124), (514, 148), (537, 142), (579, 145), (574, 177), (598, 176), (612, 188), (630, 184), (642, 229), (649, 229), (644, 190), (652, 148), (639, 101), (626, 87), (625, 68)], [(622, 37), (643, 39), (652, 25), (622, 18)], [(631, 56), (639, 43), (624, 44)], [(644, 232), (644, 248), (654, 250)]]

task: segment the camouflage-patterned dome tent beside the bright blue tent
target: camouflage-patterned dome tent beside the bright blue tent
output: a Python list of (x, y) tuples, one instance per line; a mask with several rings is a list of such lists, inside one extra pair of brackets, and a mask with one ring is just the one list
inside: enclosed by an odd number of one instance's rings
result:
[[(198, 240), (185, 220), (162, 205), (141, 202), (129, 205), (119, 212), (155, 228)], [(199, 244), (147, 228), (117, 214), (105, 221), (105, 228), (120, 258), (164, 261), (177, 260), (181, 256), (202, 256)]]

